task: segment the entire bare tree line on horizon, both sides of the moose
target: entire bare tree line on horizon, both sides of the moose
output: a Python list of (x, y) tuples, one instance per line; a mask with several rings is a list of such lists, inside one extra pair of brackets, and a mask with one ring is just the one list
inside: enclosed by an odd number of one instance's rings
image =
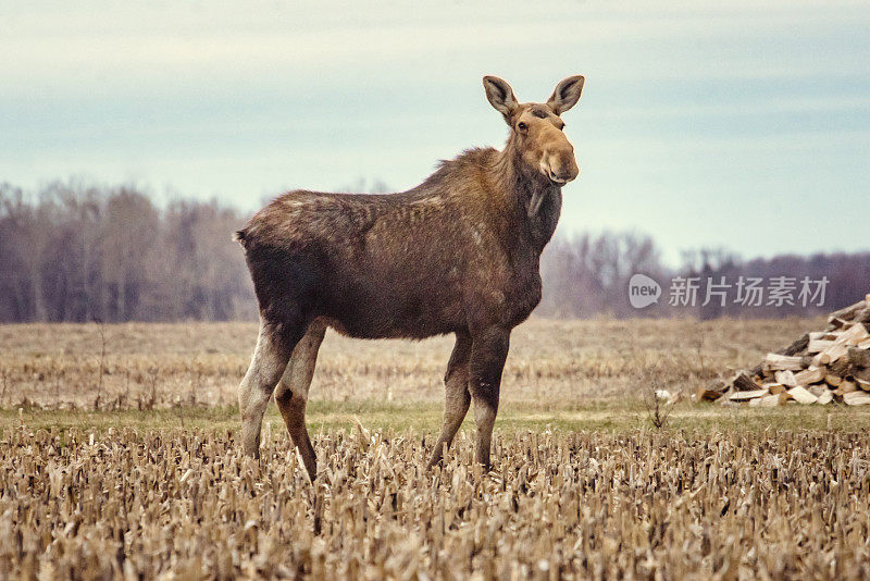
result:
[[(214, 200), (160, 207), (130, 185), (55, 182), (25, 193), (2, 184), (0, 322), (256, 319), (244, 256), (231, 240), (246, 218)], [(635, 274), (660, 287), (642, 308), (630, 300)], [(557, 236), (542, 277), (544, 317), (806, 316), (870, 292), (870, 252), (744, 261), (707, 249), (669, 269), (649, 236), (587, 233)]]

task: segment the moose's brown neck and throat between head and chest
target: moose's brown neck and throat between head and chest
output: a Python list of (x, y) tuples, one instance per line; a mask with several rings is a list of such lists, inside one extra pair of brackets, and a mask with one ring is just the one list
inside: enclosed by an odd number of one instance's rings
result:
[[(530, 170), (522, 160), (511, 133), (505, 149), (494, 164), (498, 188), (510, 209), (511, 230), (517, 242), (531, 244), (537, 255), (552, 237), (562, 209), (562, 188), (540, 180), (536, 170)], [(537, 211), (533, 202), (539, 200)]]

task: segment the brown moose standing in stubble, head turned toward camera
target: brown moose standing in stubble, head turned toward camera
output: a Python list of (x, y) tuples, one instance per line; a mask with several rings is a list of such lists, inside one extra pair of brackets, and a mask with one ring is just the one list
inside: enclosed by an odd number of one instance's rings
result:
[(511, 330), (540, 300), (540, 252), (559, 220), (562, 186), (580, 173), (561, 114), (584, 82), (570, 76), (547, 102), (521, 103), (508, 83), (485, 76), (486, 98), (510, 127), (504, 150), (468, 149), (396, 194), (289, 191), (235, 233), (260, 310), (238, 391), (246, 454), (259, 458), (274, 392), (316, 478), (304, 416), (327, 327), (359, 338), (453, 334), (430, 466), (442, 461), (473, 401), (475, 459), (489, 468)]

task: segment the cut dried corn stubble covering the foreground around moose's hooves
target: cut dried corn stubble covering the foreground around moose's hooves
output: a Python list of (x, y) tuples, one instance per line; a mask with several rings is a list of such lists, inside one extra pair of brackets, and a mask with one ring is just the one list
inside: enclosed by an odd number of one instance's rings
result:
[(179, 429), (0, 443), (0, 577), (819, 577), (870, 573), (870, 435), (530, 433), (482, 475), (460, 434), (287, 438), (258, 465)]

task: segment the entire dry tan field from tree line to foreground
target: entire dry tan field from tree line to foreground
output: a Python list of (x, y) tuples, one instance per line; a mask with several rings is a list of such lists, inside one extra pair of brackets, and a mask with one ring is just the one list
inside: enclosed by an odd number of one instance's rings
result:
[(254, 325), (0, 326), (0, 578), (867, 578), (870, 412), (645, 405), (818, 326), (530, 321), (488, 474), (424, 469), (449, 339), (328, 334), (314, 485), (274, 406), (238, 454)]

